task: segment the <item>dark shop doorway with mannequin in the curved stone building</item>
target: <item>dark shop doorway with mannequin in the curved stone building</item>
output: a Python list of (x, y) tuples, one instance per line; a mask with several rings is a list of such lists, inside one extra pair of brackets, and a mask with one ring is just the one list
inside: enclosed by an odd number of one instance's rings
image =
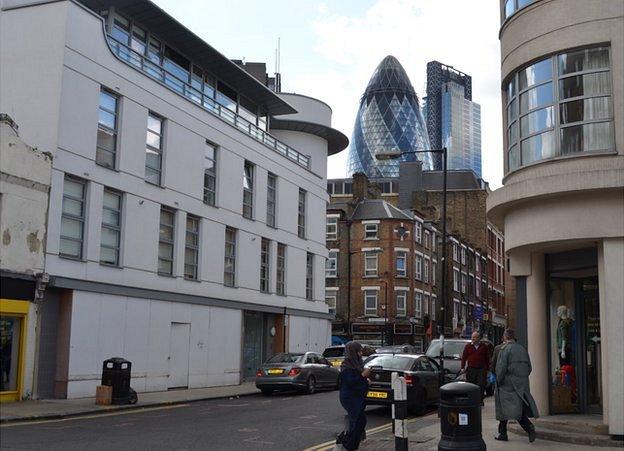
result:
[(551, 413), (602, 413), (598, 268), (595, 249), (547, 259)]

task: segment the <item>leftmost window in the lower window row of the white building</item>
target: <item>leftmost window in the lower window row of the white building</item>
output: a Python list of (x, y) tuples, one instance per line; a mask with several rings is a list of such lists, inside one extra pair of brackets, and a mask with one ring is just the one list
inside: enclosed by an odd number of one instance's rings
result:
[(59, 255), (63, 257), (82, 258), (86, 195), (84, 180), (65, 176), (59, 247)]

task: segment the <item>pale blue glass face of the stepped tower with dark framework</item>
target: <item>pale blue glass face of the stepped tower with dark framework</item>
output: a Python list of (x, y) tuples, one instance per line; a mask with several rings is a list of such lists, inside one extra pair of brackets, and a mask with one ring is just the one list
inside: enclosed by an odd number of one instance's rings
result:
[(481, 106), (464, 96), (464, 87), (442, 86), (442, 147), (449, 169), (471, 169), (481, 177)]

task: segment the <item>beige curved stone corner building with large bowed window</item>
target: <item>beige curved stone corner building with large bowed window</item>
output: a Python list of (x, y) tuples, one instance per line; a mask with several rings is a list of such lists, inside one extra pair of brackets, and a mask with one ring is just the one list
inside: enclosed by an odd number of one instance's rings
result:
[(624, 434), (624, 2), (501, 0), (504, 225), (542, 414)]

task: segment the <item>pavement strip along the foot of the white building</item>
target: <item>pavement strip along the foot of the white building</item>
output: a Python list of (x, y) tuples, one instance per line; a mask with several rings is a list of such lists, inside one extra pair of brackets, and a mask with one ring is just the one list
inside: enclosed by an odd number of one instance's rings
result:
[(196, 388), (139, 393), (139, 401), (132, 405), (100, 406), (95, 398), (43, 399), (0, 404), (0, 423), (58, 419), (79, 415), (95, 415), (120, 410), (137, 410), (146, 407), (181, 404), (206, 399), (240, 397), (258, 394), (253, 382), (226, 387)]

